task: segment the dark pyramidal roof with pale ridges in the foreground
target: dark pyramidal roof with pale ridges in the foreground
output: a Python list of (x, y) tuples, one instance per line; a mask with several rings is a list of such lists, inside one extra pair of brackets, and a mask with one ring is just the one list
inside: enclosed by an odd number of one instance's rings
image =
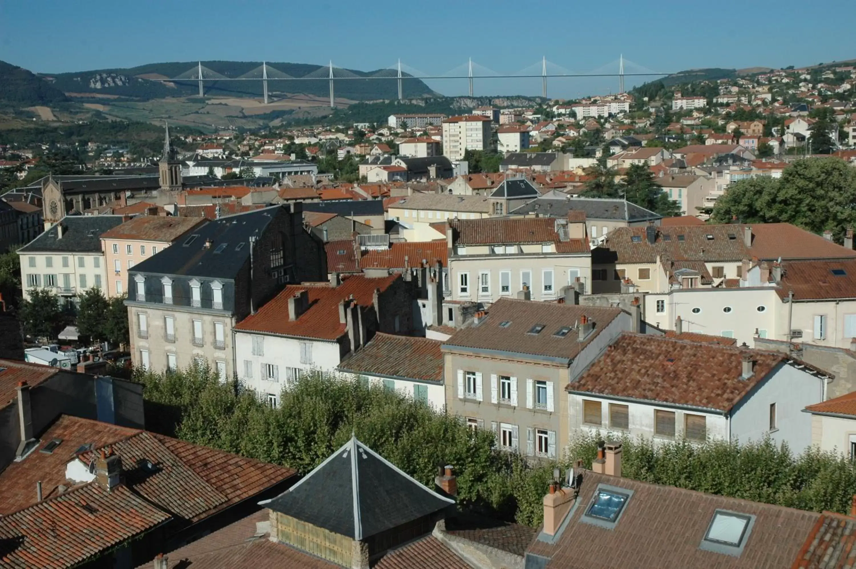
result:
[(299, 483), (260, 502), (275, 512), (355, 540), (454, 503), (407, 476), (356, 436)]

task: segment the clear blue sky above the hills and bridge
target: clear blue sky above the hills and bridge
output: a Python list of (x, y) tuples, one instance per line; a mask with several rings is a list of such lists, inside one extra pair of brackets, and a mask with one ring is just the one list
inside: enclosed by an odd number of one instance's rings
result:
[[(739, 6), (739, 9), (732, 7)], [(0, 0), (0, 59), (36, 72), (238, 60), (466, 74), (467, 57), (501, 74), (641, 67), (808, 65), (856, 57), (853, 0), (743, 3), (639, 0)], [(477, 66), (478, 70), (481, 69)], [(482, 73), (486, 73), (482, 71)], [(645, 79), (627, 78), (627, 86)], [(465, 94), (466, 80), (434, 81)], [(552, 97), (615, 90), (618, 80), (550, 80)], [(477, 80), (477, 95), (539, 94), (532, 80)]]

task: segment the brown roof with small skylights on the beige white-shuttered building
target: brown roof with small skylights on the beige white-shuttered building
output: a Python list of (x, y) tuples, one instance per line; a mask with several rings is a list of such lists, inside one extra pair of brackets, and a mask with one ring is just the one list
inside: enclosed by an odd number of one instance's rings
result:
[[(532, 300), (499, 299), (490, 305), (490, 311), (478, 324), (458, 329), (443, 343), (443, 352), (457, 348), (475, 348), (503, 353), (523, 353), (549, 358), (574, 359), (600, 331), (621, 314), (618, 308), (597, 308), (580, 305), (558, 305)], [(595, 323), (594, 331), (579, 341), (579, 333), (572, 329), (561, 338), (555, 333), (563, 326), (574, 328), (580, 317), (586, 316)], [(508, 326), (500, 324), (508, 322)], [(529, 334), (536, 324), (544, 324), (540, 334)]]

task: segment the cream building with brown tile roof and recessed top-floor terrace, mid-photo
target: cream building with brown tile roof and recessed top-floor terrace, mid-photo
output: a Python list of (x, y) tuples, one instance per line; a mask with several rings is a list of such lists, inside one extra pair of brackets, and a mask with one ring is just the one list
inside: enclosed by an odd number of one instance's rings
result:
[(591, 290), (585, 218), (451, 220), (446, 228), (452, 298), (482, 303), (526, 293), (562, 297), (580, 282)]

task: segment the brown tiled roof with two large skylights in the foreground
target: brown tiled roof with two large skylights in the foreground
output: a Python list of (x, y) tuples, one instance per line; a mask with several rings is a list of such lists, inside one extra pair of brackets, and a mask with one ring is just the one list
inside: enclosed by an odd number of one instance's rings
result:
[[(598, 484), (633, 492), (611, 530), (581, 519)], [(698, 546), (716, 510), (755, 516), (740, 556)], [(629, 478), (582, 472), (577, 507), (555, 544), (535, 540), (529, 553), (550, 569), (772, 569), (790, 567), (821, 514)]]

